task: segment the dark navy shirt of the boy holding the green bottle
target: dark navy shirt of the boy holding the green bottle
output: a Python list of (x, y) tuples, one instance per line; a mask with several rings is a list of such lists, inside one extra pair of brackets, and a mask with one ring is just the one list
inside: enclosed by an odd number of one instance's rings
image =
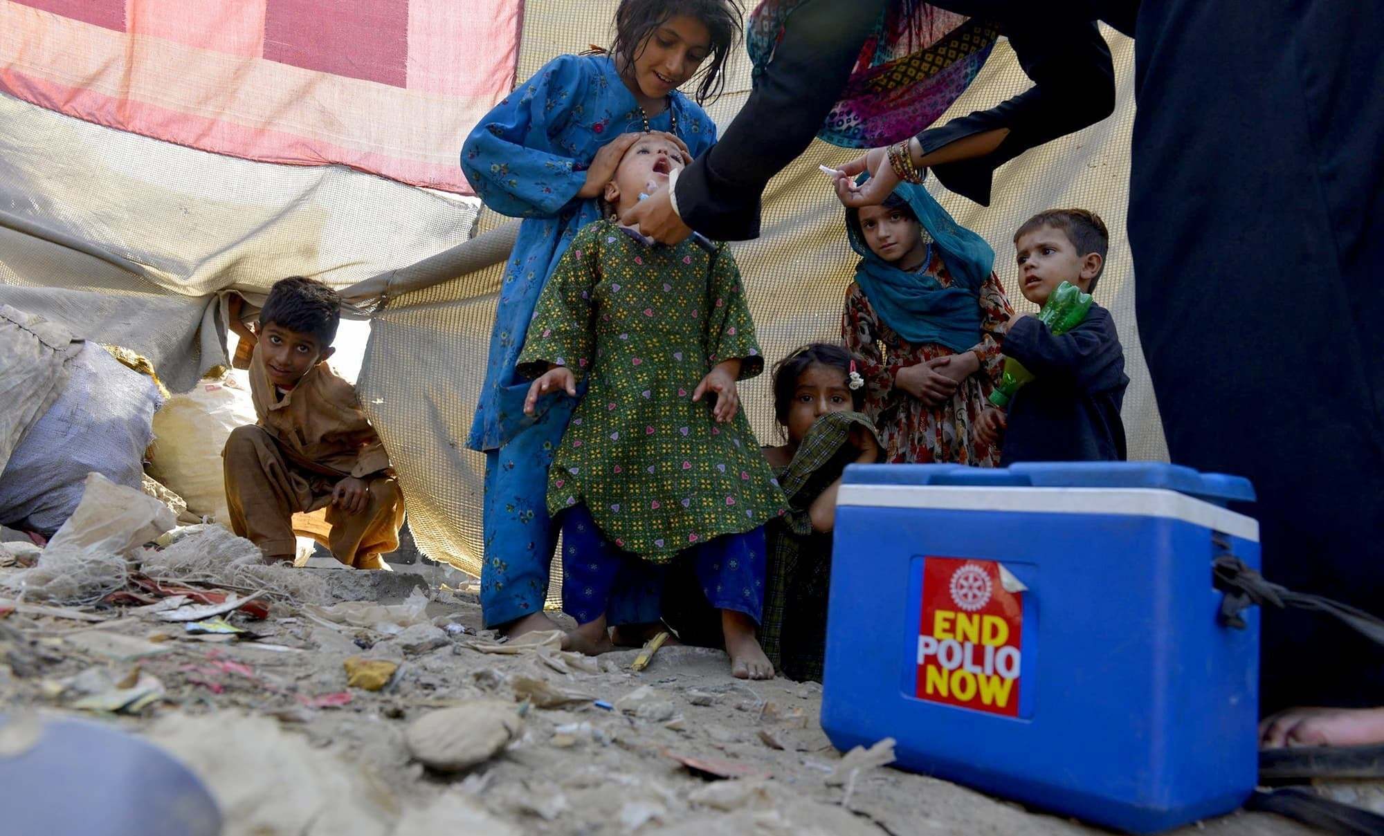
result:
[(1120, 406), (1129, 378), (1109, 310), (1092, 305), (1084, 322), (1059, 336), (1035, 317), (1024, 317), (1009, 325), (1002, 350), (1035, 379), (1009, 404), (999, 466), (1125, 460)]

